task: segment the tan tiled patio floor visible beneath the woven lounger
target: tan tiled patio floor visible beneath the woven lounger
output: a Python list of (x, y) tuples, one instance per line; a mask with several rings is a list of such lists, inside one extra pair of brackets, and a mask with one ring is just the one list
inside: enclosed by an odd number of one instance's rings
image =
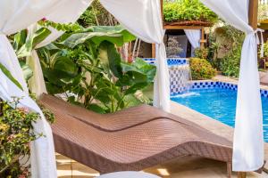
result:
[[(59, 178), (93, 178), (99, 174), (70, 158), (57, 155)], [(144, 170), (147, 173), (157, 174), (164, 178), (225, 178), (226, 166), (224, 163), (204, 158), (180, 158), (164, 165)], [(233, 174), (233, 177), (236, 174)], [(248, 177), (268, 177), (268, 174), (248, 174)]]

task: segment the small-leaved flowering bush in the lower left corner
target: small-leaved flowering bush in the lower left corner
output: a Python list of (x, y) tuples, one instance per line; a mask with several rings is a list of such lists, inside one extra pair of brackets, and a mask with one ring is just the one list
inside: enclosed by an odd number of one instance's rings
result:
[(19, 159), (27, 158), (29, 142), (42, 136), (30, 131), (38, 114), (18, 108), (18, 101), (0, 103), (0, 177), (29, 177), (29, 166), (20, 166)]

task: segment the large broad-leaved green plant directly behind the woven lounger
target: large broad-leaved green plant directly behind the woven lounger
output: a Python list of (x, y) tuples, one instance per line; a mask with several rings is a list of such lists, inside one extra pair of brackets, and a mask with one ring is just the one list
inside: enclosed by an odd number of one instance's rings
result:
[(155, 67), (123, 62), (116, 48), (134, 39), (121, 26), (91, 27), (38, 50), (48, 92), (99, 113), (140, 103), (136, 93), (153, 82)]

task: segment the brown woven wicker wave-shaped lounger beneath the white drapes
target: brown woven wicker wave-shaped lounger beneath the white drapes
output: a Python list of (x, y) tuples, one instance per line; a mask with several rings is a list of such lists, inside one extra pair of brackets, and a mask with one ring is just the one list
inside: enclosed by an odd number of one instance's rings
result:
[(101, 115), (50, 95), (40, 103), (56, 117), (55, 150), (101, 174), (192, 155), (226, 162), (230, 177), (232, 143), (181, 117), (147, 105)]

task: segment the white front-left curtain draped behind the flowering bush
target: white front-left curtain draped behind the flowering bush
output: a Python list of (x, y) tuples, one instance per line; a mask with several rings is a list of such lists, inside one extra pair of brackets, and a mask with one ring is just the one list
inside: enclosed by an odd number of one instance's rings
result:
[(5, 101), (13, 101), (13, 96), (22, 97), (20, 106), (38, 112), (41, 117), (36, 123), (33, 123), (33, 131), (46, 135), (46, 137), (41, 137), (35, 142), (31, 142), (30, 171), (34, 178), (54, 178), (57, 176), (53, 135), (42, 111), (38, 108), (35, 101), (29, 98), (27, 84), (23, 78), (19, 61), (6, 36), (29, 27), (30, 24), (41, 20), (51, 12), (64, 9), (66, 4), (73, 3), (72, 0), (0, 1), (0, 62), (6, 69), (9, 69), (13, 77), (23, 87), (23, 91), (21, 91), (0, 70), (0, 97)]

